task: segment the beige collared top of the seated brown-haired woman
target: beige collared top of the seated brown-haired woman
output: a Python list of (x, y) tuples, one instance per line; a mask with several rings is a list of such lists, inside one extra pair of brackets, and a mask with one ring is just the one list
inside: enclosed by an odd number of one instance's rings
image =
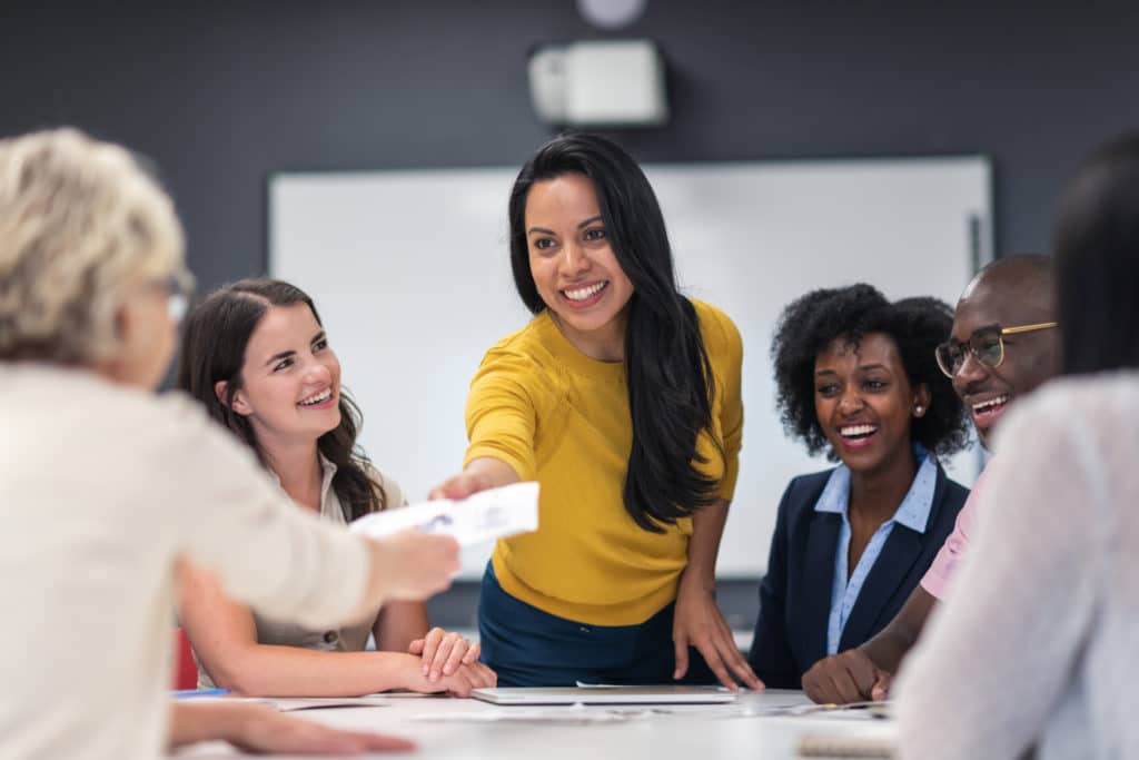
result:
[[(333, 489), (336, 465), (321, 455), (320, 466), (323, 472), (320, 483), (320, 516), (337, 525), (346, 525), (347, 518), (344, 516), (341, 500)], [(269, 474), (276, 477), (272, 472)], [(407, 506), (399, 483), (376, 468), (369, 468), (368, 474), (383, 490), (385, 508)], [(257, 627), (257, 644), (297, 646), (318, 652), (363, 652), (368, 646), (368, 637), (371, 635), (378, 615), (379, 610), (377, 608), (375, 613), (354, 626), (308, 628), (290, 620), (273, 620), (254, 611), (253, 622)], [(200, 662), (197, 664), (198, 688), (213, 688), (214, 683), (210, 678), (210, 673), (206, 672)]]

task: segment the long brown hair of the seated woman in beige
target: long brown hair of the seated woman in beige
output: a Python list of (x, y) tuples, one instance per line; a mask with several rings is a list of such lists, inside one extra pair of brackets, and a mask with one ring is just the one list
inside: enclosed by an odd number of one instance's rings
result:
[[(187, 317), (182, 349), (178, 361), (178, 387), (200, 401), (210, 416), (233, 431), (257, 453), (263, 465), (264, 452), (257, 443), (248, 418), (233, 411), (233, 394), (243, 384), (241, 366), (249, 336), (269, 307), (303, 303), (320, 324), (317, 307), (301, 288), (268, 278), (243, 279), (211, 293)], [(219, 381), (227, 383), (226, 400), (214, 392)], [(368, 457), (357, 447), (362, 416), (344, 389), (341, 389), (341, 424), (317, 440), (320, 452), (336, 465), (333, 490), (352, 521), (369, 512), (383, 509), (384, 492), (368, 476)]]

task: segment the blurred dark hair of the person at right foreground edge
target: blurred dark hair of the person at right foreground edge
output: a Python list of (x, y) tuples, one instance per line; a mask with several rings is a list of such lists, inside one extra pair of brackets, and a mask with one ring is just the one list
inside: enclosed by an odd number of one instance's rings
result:
[(1080, 165), (1055, 247), (1064, 374), (1139, 367), (1139, 131)]

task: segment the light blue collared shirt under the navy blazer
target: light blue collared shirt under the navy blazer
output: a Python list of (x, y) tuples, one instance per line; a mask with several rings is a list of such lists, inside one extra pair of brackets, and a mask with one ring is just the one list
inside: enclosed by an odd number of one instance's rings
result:
[(841, 515), (842, 529), (838, 531), (838, 546), (835, 549), (835, 572), (830, 587), (830, 618), (827, 622), (827, 654), (838, 652), (838, 641), (843, 637), (843, 628), (850, 618), (858, 595), (862, 590), (870, 570), (878, 562), (878, 555), (894, 530), (894, 525), (904, 525), (918, 533), (925, 533), (929, 522), (929, 510), (933, 508), (933, 492), (937, 484), (937, 460), (920, 446), (913, 447), (913, 457), (921, 461), (910, 490), (898, 505), (894, 516), (878, 526), (870, 537), (862, 556), (859, 557), (854, 572), (847, 578), (846, 567), (850, 564), (851, 522), (847, 515), (851, 495), (851, 471), (846, 465), (838, 465), (830, 473), (819, 500), (814, 504), (816, 512), (829, 512)]

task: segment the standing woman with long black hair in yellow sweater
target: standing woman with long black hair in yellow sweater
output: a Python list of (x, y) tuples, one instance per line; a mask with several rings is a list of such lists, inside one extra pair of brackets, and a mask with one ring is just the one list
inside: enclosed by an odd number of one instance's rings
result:
[(542, 146), (509, 216), (535, 317), (486, 353), (464, 469), (433, 491), (542, 485), (539, 531), (499, 541), (483, 579), (484, 662), (502, 686), (714, 673), (761, 687), (713, 595), (743, 430), (739, 333), (678, 292), (656, 196), (613, 142)]

